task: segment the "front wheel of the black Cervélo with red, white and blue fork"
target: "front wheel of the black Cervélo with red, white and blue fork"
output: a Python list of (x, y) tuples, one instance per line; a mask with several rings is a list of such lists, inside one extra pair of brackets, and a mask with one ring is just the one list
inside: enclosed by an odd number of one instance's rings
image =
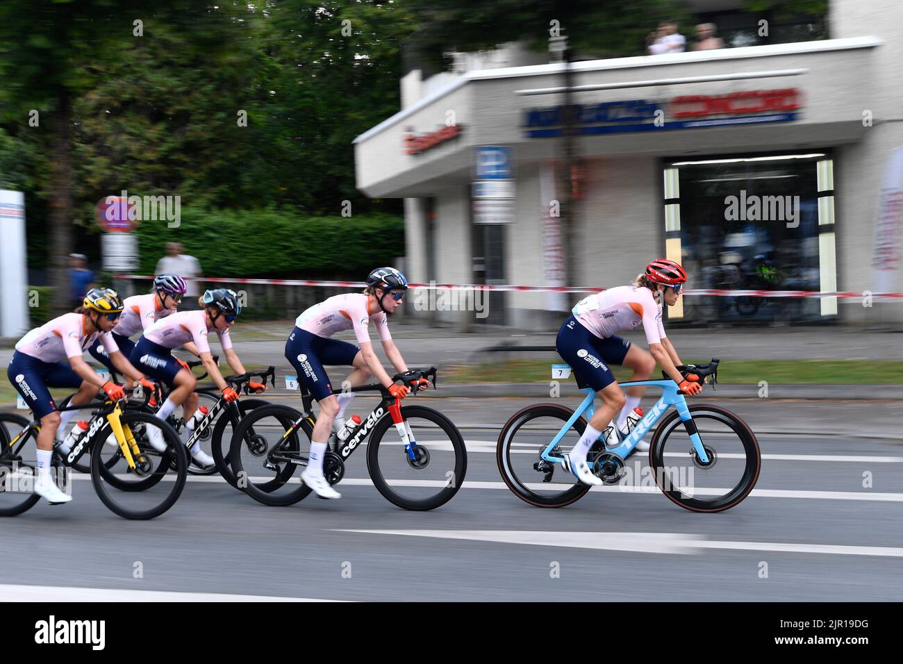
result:
[(400, 508), (434, 510), (452, 500), (464, 482), (464, 439), (452, 420), (433, 408), (405, 406), (401, 416), (414, 458), (405, 450), (392, 416), (386, 415), (367, 443), (370, 479), (386, 500)]

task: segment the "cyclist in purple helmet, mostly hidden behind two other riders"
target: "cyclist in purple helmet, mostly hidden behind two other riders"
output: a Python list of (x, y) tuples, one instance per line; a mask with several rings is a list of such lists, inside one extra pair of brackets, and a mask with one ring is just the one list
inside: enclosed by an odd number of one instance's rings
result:
[[(144, 332), (161, 318), (175, 313), (187, 288), (181, 276), (159, 275), (154, 277), (154, 290), (151, 293), (126, 297), (123, 302), (125, 308), (111, 332), (113, 340), (126, 358), (131, 357), (135, 348), (135, 342), (129, 337), (136, 332)], [(107, 369), (114, 370), (102, 344), (92, 343), (88, 352)], [(197, 355), (196, 352), (194, 354)]]

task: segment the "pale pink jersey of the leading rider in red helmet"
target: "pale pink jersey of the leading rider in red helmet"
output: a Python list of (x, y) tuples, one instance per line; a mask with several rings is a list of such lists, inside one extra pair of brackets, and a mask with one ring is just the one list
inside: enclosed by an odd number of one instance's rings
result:
[(665, 338), (662, 326), (662, 305), (648, 288), (619, 285), (615, 288), (587, 295), (571, 310), (583, 327), (601, 339), (612, 334), (633, 330), (643, 323), (646, 341), (658, 343)]

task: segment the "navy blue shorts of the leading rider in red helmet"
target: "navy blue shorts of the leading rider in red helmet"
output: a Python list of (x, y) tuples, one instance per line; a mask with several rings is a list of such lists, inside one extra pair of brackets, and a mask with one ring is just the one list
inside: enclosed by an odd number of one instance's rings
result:
[(598, 392), (615, 381), (608, 365), (624, 363), (630, 341), (614, 334), (600, 339), (571, 315), (558, 331), (555, 348), (579, 382)]

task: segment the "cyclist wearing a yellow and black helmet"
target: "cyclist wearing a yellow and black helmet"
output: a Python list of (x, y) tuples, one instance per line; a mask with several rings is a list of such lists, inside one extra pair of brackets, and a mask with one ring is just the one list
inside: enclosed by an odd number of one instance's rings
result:
[[(70, 405), (87, 404), (103, 389), (111, 399), (126, 396), (121, 385), (104, 381), (82, 359), (82, 353), (99, 340), (109, 354), (113, 366), (126, 378), (153, 387), (119, 351), (110, 331), (122, 313), (123, 304), (116, 291), (92, 288), (74, 313), (64, 313), (49, 323), (33, 329), (15, 344), (13, 358), (6, 375), (14, 388), (41, 420), (38, 432), (38, 477), (35, 493), (56, 504), (72, 500), (52, 481), (50, 475), (53, 441), (78, 410), (57, 410), (48, 388), (78, 388)], [(66, 361), (68, 360), (68, 362)]]

